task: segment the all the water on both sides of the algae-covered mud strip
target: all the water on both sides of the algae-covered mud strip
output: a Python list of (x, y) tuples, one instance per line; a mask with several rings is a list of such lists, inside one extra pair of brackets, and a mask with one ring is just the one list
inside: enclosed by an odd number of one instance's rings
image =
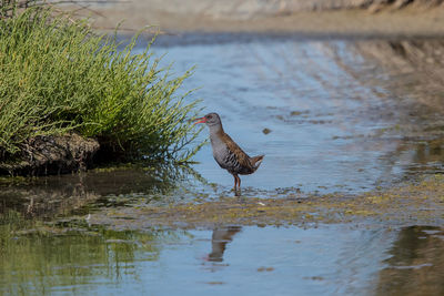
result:
[[(198, 65), (191, 98), (250, 155), (266, 155), (242, 178), (246, 198), (359, 194), (443, 172), (441, 40), (190, 34), (153, 50), (174, 73)], [(444, 294), (444, 228), (414, 220), (199, 229), (89, 220), (233, 195), (210, 146), (195, 161), (1, 184), (0, 294)]]

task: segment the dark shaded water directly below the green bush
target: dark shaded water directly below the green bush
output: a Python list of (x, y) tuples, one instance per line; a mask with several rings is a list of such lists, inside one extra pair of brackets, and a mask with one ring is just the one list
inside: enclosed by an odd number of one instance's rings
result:
[[(17, 180), (16, 182), (13, 182)], [(0, 183), (0, 214), (9, 211), (30, 217), (88, 214), (100, 207), (134, 202), (163, 203), (185, 198), (201, 177), (188, 167), (158, 166), (100, 169), (84, 173)], [(180, 196), (178, 196), (180, 195)]]

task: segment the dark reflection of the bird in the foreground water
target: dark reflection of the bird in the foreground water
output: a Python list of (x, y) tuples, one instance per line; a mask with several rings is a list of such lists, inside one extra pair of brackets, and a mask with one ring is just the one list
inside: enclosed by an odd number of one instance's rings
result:
[(208, 256), (209, 262), (222, 262), (226, 244), (233, 241), (233, 236), (242, 229), (241, 226), (225, 226), (213, 229), (211, 237), (211, 253)]

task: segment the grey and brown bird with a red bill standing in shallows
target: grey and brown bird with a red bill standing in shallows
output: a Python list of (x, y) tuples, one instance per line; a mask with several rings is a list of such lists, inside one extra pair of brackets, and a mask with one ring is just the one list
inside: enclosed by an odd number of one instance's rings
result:
[(213, 150), (213, 157), (216, 163), (225, 169), (234, 177), (234, 193), (238, 195), (241, 190), (239, 175), (250, 175), (261, 165), (265, 155), (250, 157), (231, 137), (223, 127), (218, 113), (209, 113), (203, 118), (195, 119), (194, 124), (205, 123), (210, 129), (210, 142)]

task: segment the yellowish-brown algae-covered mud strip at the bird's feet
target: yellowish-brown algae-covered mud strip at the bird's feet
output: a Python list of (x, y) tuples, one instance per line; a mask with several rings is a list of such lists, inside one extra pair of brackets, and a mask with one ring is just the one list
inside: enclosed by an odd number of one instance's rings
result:
[(221, 197), (182, 204), (138, 205), (92, 213), (89, 223), (112, 228), (212, 228), (218, 225), (313, 225), (364, 223), (369, 225), (442, 225), (444, 176), (426, 177), (387, 191), (362, 195), (299, 195), (285, 197)]

